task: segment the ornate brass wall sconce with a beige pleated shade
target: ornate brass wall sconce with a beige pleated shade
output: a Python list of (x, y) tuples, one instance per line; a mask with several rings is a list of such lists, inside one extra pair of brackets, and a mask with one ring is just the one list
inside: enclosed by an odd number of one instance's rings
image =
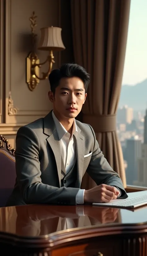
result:
[[(35, 34), (35, 27), (37, 26), (36, 23), (35, 12), (33, 12), (32, 16), (29, 18), (31, 22), (31, 32), (32, 32), (32, 43), (33, 48), (36, 42), (37, 34)], [(38, 85), (40, 80), (45, 80), (48, 78), (48, 75), (51, 73), (52, 64), (55, 63), (53, 51), (61, 51), (65, 50), (65, 46), (62, 42), (61, 37), (62, 29), (60, 27), (44, 27), (41, 28), (41, 39), (39, 43), (39, 50), (49, 51), (47, 59), (40, 63), (40, 60), (37, 54), (32, 51), (29, 53), (27, 57), (27, 68), (26, 68), (26, 81), (30, 91), (33, 91), (36, 86)], [(42, 72), (42, 76), (39, 76), (39, 69), (42, 65), (48, 62), (48, 70), (47, 72)]]

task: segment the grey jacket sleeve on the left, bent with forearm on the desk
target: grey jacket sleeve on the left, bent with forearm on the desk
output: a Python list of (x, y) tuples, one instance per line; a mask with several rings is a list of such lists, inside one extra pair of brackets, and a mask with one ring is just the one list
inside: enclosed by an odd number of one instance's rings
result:
[(38, 136), (28, 126), (21, 127), (16, 136), (17, 182), (26, 204), (76, 204), (78, 188), (54, 187), (42, 183)]

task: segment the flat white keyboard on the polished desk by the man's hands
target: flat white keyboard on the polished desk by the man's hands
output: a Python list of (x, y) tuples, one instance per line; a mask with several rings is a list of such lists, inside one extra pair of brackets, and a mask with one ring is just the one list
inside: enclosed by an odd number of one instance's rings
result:
[(136, 208), (147, 204), (147, 194), (136, 196), (134, 198), (117, 199), (110, 203), (93, 203), (97, 206), (110, 206), (110, 207), (121, 207), (121, 208)]

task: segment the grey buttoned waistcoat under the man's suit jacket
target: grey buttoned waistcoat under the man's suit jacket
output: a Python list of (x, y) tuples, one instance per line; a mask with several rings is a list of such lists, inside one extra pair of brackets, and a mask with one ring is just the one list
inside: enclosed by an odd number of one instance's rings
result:
[(72, 169), (66, 174), (65, 165), (61, 157), (61, 187), (75, 188), (77, 181), (77, 160), (75, 161)]

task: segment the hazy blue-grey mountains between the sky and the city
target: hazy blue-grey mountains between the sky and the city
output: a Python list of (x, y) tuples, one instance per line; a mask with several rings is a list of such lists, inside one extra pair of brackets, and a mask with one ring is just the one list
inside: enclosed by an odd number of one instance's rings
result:
[(135, 111), (147, 108), (147, 79), (134, 85), (122, 85), (119, 107), (127, 105)]

